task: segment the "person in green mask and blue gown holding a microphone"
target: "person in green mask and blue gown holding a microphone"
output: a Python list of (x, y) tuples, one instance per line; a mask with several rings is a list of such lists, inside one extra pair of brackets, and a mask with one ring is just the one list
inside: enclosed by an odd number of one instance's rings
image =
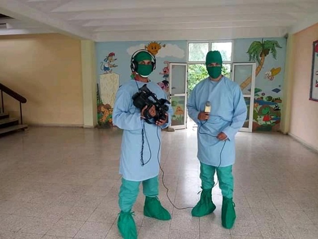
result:
[[(197, 156), (202, 182), (200, 201), (191, 214), (203, 217), (215, 210), (212, 188), (216, 172), (223, 195), (222, 226), (231, 229), (236, 220), (232, 174), (235, 135), (246, 120), (247, 108), (239, 85), (222, 75), (222, 63), (219, 51), (208, 52), (206, 67), (209, 77), (194, 87), (187, 104), (189, 117), (198, 124)], [(208, 102), (211, 111), (206, 112)]]

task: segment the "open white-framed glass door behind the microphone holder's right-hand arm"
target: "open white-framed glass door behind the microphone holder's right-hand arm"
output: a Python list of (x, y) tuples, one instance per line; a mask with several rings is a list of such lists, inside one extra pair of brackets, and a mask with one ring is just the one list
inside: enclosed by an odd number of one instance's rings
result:
[(247, 117), (240, 131), (251, 132), (253, 128), (253, 108), (255, 91), (255, 62), (233, 63), (232, 80), (239, 84), (247, 106)]

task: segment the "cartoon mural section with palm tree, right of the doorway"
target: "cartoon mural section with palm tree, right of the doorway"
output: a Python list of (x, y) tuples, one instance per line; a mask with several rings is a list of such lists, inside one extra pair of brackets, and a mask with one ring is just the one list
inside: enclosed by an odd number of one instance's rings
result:
[[(257, 64), (254, 92), (253, 131), (278, 131), (282, 108), (282, 85), (285, 66), (285, 38), (238, 39), (234, 61)], [(242, 50), (245, 50), (243, 53)], [(250, 91), (251, 76), (240, 84)], [(247, 104), (249, 108), (249, 101)]]

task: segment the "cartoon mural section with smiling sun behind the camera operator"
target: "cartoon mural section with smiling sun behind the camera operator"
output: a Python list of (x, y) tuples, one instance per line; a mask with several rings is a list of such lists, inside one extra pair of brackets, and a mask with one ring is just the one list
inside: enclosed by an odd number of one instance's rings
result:
[[(97, 42), (97, 114), (99, 127), (112, 127), (112, 111), (118, 88), (134, 78), (130, 70), (132, 54), (146, 49), (156, 56), (151, 81), (169, 94), (169, 62), (186, 62), (186, 41)], [(136, 89), (137, 90), (137, 89)], [(175, 109), (176, 110), (176, 109)], [(178, 114), (178, 112), (176, 112)]]

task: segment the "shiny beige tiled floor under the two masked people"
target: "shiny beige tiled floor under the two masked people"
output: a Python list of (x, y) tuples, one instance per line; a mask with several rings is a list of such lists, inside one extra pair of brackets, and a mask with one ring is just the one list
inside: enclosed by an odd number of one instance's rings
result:
[[(193, 129), (163, 132), (162, 167), (177, 207), (199, 199), (199, 163)], [(0, 239), (120, 239), (116, 129), (30, 128), (0, 138)], [(176, 210), (160, 185), (172, 220), (143, 216), (134, 207), (139, 239), (318, 239), (318, 155), (281, 134), (238, 133), (232, 230), (215, 213), (192, 218)]]

